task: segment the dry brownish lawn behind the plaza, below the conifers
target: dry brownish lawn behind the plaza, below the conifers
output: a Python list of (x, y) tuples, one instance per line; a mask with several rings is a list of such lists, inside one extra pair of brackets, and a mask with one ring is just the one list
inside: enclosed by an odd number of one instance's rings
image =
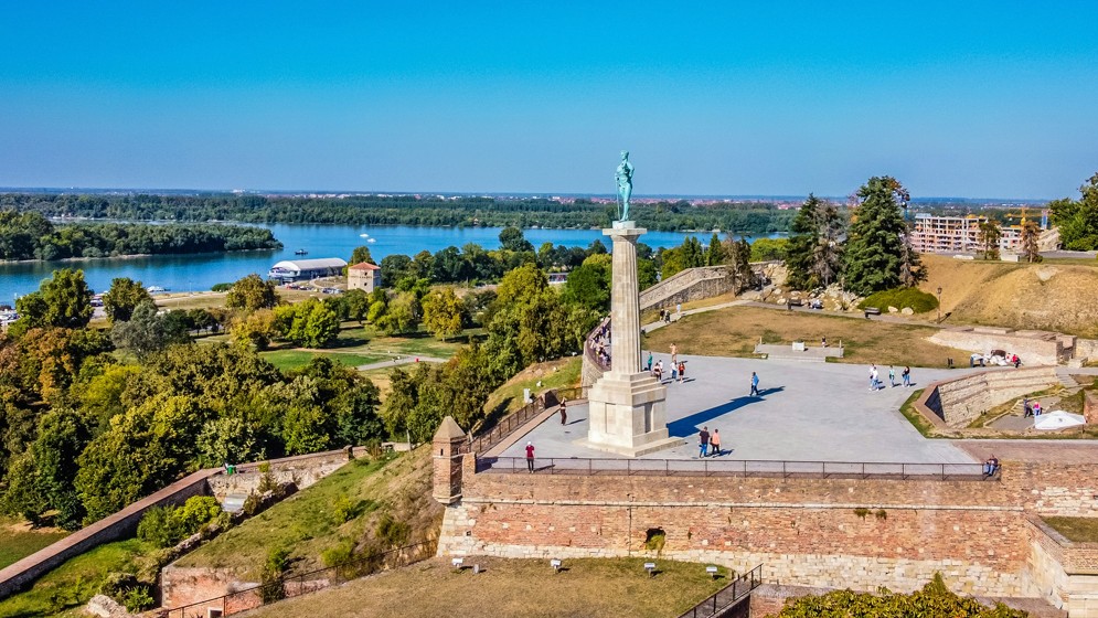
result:
[(750, 356), (759, 337), (764, 343), (802, 340), (819, 345), (822, 337), (831, 345), (840, 341), (845, 358), (839, 362), (878, 365), (946, 366), (946, 359), (968, 358), (968, 352), (927, 341), (936, 332), (930, 327), (868, 321), (789, 312), (758, 307), (732, 307), (685, 316), (682, 320), (644, 335), (644, 348), (668, 351), (672, 342), (684, 354)]

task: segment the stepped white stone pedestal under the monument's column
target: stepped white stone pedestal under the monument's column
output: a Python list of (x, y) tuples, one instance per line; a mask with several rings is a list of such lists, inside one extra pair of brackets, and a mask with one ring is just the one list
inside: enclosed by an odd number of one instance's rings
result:
[(604, 375), (587, 396), (587, 438), (575, 444), (626, 457), (682, 445), (668, 435), (667, 392), (647, 372)]

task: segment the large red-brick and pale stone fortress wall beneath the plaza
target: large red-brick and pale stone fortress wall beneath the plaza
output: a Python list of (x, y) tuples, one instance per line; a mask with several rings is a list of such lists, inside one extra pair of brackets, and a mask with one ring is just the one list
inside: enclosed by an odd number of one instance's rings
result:
[(475, 475), (467, 456), (439, 553), (651, 555), (660, 529), (662, 556), (763, 563), (771, 583), (906, 592), (941, 572), (958, 592), (1022, 596), (1026, 513), (1091, 513), (1098, 483), (1081, 468), (1008, 461), (1001, 481), (583, 477)]

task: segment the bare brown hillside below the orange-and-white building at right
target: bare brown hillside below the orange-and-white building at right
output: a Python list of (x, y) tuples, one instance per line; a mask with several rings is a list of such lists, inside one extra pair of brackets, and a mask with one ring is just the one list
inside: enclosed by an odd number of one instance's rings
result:
[(924, 291), (941, 287), (946, 323), (1038, 329), (1098, 338), (1098, 260), (1011, 264), (923, 256)]

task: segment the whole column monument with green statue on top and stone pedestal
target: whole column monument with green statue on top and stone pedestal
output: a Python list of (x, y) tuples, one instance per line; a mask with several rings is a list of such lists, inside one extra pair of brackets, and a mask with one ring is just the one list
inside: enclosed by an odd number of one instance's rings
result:
[(640, 358), (640, 289), (637, 238), (647, 232), (629, 221), (633, 166), (621, 152), (615, 173), (619, 216), (603, 234), (614, 242), (610, 285), (610, 371), (587, 395), (589, 429), (579, 444), (637, 457), (682, 444), (668, 436), (667, 387), (643, 370)]

